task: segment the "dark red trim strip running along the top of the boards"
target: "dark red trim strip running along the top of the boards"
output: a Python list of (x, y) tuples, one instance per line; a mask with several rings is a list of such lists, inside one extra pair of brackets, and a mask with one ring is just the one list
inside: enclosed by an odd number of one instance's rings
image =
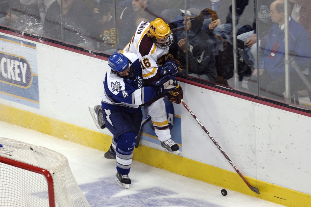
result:
[[(0, 32), (5, 33), (5, 34), (11, 34), (13, 36), (21, 37), (23, 39), (28, 39), (28, 40), (31, 40), (31, 41), (34, 41), (34, 42), (39, 42), (39, 43), (42, 43), (42, 44), (47, 44), (47, 45), (50, 45), (50, 46), (53, 46), (53, 47), (56, 47), (56, 48), (61, 48), (61, 49), (68, 50), (68, 51), (75, 52), (75, 53), (79, 53), (79, 54), (82, 54), (82, 55), (90, 56), (90, 57), (93, 57), (93, 58), (98, 58), (98, 59), (101, 59), (101, 60), (108, 61), (108, 58), (100, 56), (100, 55), (95, 55), (95, 54), (92, 54), (92, 53), (87, 53), (87, 52), (84, 52), (84, 51), (81, 51), (81, 50), (77, 50), (77, 49), (74, 49), (74, 48), (70, 48), (70, 47), (66, 47), (66, 46), (63, 46), (63, 45), (60, 45), (60, 44), (51, 43), (51, 42), (48, 42), (48, 41), (45, 41), (45, 40), (40, 40), (40, 39), (29, 37), (29, 36), (26, 36), (26, 35), (18, 34), (16, 32), (12, 32), (12, 31), (8, 31), (8, 30), (2, 30), (2, 29), (0, 29)], [(190, 85), (195, 85), (195, 86), (198, 86), (198, 87), (201, 87), (201, 88), (205, 88), (205, 89), (208, 89), (208, 90), (216, 91), (216, 92), (219, 92), (219, 93), (222, 93), (222, 94), (227, 94), (227, 95), (234, 96), (234, 97), (237, 97), (237, 98), (240, 98), (240, 99), (252, 101), (252, 102), (255, 102), (255, 103), (258, 103), (258, 104), (263, 104), (263, 105), (270, 106), (270, 107), (273, 107), (273, 108), (282, 109), (284, 111), (289, 111), (289, 112), (292, 112), (292, 113), (298, 113), (300, 115), (311, 117), (310, 113), (299, 111), (299, 110), (296, 110), (296, 109), (293, 109), (293, 108), (288, 108), (288, 107), (285, 107), (285, 106), (281, 106), (281, 105), (277, 105), (277, 104), (272, 104), (272, 103), (269, 103), (267, 101), (251, 98), (251, 97), (244, 96), (244, 95), (241, 95), (241, 94), (236, 94), (236, 93), (233, 93), (233, 92), (230, 92), (230, 91), (222, 90), (222, 89), (219, 89), (219, 88), (215, 88), (215, 87), (212, 87), (212, 86), (209, 86), (209, 85), (205, 85), (205, 84), (202, 84), (202, 83), (198, 83), (198, 82), (195, 82), (195, 81), (190, 81), (190, 80), (179, 78), (179, 77), (177, 78), (177, 80), (180, 81), (180, 82), (183, 82), (183, 83), (187, 83), (187, 84), (190, 84)]]

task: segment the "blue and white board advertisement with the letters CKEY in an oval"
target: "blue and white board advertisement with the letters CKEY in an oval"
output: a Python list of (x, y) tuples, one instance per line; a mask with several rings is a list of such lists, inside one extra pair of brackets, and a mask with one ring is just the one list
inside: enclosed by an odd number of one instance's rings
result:
[(40, 108), (36, 44), (0, 35), (0, 99)]

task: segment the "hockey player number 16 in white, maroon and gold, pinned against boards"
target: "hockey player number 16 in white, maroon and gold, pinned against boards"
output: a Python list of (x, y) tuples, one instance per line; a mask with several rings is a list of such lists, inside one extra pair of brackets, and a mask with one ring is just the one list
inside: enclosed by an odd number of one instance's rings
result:
[[(137, 54), (142, 65), (142, 77), (145, 83), (150, 85), (163, 76), (178, 74), (178, 63), (169, 55), (169, 46), (172, 43), (173, 33), (169, 25), (162, 19), (156, 18), (150, 23), (142, 21), (121, 53)], [(182, 98), (183, 90), (180, 86), (169, 92), (168, 99), (176, 104), (179, 104)], [(151, 121), (162, 147), (165, 151), (179, 154), (179, 146), (171, 139), (164, 97), (157, 97), (146, 104), (149, 106)]]

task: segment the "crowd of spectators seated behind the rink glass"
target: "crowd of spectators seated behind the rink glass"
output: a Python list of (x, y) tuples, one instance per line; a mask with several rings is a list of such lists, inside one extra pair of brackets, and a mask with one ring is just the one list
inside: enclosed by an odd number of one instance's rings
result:
[[(107, 54), (121, 52), (141, 21), (160, 17), (174, 34), (169, 53), (182, 64), (181, 75), (254, 95), (259, 88), (263, 98), (285, 101), (284, 0), (236, 0), (235, 18), (230, 0), (188, 0), (187, 10), (184, 0), (0, 0), (0, 4), (1, 26)], [(301, 74), (311, 82), (311, 0), (290, 0), (288, 16), (290, 102), (308, 107), (310, 88)]]

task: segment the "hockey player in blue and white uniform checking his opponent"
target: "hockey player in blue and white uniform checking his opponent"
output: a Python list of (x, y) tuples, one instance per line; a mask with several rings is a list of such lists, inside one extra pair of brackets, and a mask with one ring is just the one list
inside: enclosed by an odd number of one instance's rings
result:
[(107, 71), (104, 80), (102, 107), (113, 140), (105, 158), (116, 158), (117, 184), (128, 189), (135, 137), (142, 122), (141, 105), (175, 89), (178, 83), (174, 76), (168, 75), (144, 87), (142, 67), (134, 53), (114, 53), (108, 59), (108, 65), (111, 70)]

